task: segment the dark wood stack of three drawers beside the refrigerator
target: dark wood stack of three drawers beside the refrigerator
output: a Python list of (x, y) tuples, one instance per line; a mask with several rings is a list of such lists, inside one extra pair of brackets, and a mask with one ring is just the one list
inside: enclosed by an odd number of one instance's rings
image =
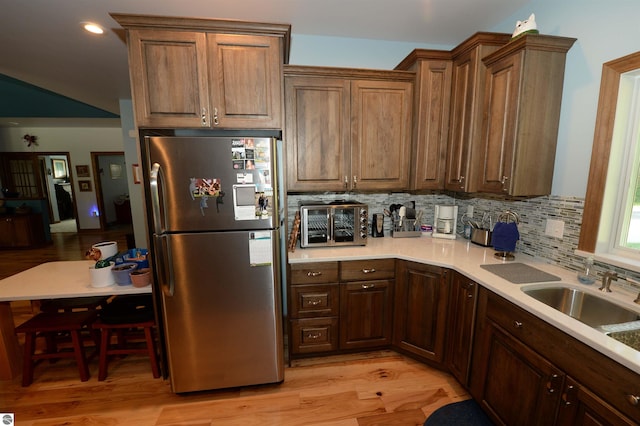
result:
[(338, 262), (289, 265), (292, 357), (338, 349)]

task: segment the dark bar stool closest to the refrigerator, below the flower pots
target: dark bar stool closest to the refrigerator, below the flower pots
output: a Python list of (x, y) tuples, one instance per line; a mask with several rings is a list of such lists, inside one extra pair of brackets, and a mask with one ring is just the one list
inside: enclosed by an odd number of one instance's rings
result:
[[(100, 330), (100, 368), (98, 380), (107, 378), (109, 357), (112, 355), (149, 355), (154, 378), (160, 377), (158, 356), (153, 335), (155, 317), (151, 295), (117, 296), (99, 311), (93, 328)], [(116, 334), (116, 344), (111, 343), (111, 333)], [(140, 345), (140, 335), (144, 347)]]

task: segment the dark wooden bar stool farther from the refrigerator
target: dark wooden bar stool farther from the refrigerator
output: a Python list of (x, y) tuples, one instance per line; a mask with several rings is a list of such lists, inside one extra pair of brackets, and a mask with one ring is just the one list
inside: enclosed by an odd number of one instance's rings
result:
[[(16, 327), (16, 333), (25, 333), (24, 364), (22, 367), (22, 386), (33, 382), (33, 370), (42, 359), (75, 358), (80, 372), (80, 380), (89, 380), (89, 368), (80, 332), (91, 330), (91, 324), (98, 316), (97, 311), (82, 312), (42, 312)], [(68, 332), (71, 335), (72, 350), (58, 350), (47, 343), (47, 350), (36, 353), (36, 338), (47, 337), (52, 333)]]

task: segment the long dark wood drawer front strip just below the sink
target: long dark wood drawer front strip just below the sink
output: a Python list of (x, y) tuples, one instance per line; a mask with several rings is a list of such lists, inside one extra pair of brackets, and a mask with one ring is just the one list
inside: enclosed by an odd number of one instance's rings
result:
[(640, 375), (500, 296), (486, 294), (489, 318), (640, 423), (640, 405), (630, 402), (640, 396)]

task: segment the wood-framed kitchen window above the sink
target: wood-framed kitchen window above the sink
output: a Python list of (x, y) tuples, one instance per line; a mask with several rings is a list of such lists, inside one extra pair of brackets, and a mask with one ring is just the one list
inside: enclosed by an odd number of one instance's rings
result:
[(639, 142), (640, 52), (603, 66), (578, 244), (578, 254), (640, 272)]

